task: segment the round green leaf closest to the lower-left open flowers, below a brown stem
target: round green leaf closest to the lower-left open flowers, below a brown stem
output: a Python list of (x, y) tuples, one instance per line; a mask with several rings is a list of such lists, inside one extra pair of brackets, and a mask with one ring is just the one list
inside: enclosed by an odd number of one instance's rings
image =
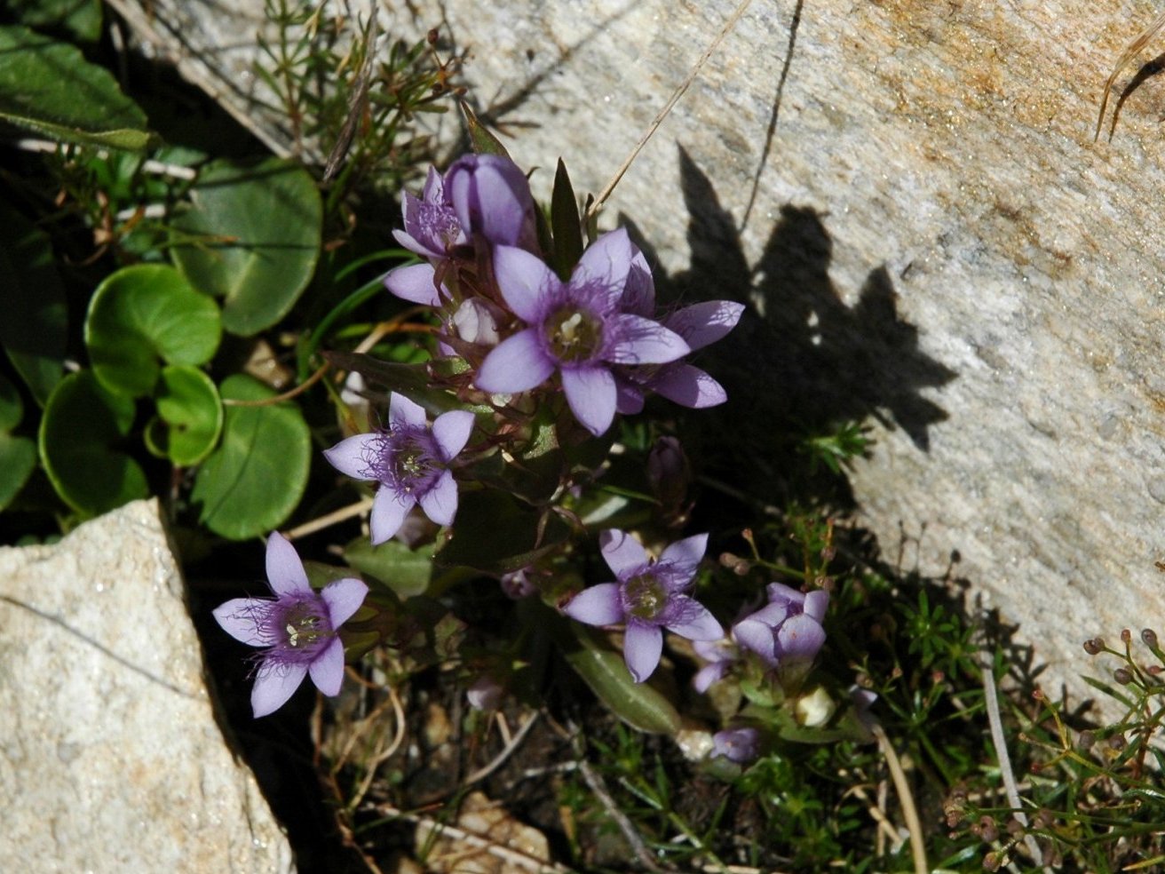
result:
[[(259, 380), (228, 376), (224, 399), (257, 401), (275, 395)], [(200, 520), (231, 540), (257, 537), (278, 528), (303, 498), (311, 463), (311, 436), (290, 401), (263, 407), (227, 407), (223, 443), (198, 470), (191, 501)]]

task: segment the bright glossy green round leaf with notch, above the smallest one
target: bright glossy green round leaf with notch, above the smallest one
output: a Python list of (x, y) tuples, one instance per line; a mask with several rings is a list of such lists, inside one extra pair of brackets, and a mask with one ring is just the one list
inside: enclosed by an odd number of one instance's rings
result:
[(85, 318), (93, 373), (111, 392), (154, 392), (161, 364), (202, 365), (218, 348), (218, 305), (167, 265), (135, 265), (97, 288)]

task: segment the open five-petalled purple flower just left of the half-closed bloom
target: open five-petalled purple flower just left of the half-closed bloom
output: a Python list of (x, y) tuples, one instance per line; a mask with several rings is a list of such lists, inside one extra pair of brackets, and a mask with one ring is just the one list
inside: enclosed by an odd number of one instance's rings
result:
[(686, 537), (672, 543), (654, 562), (626, 533), (603, 531), (599, 536), (602, 557), (619, 582), (579, 592), (563, 612), (587, 625), (626, 622), (623, 660), (635, 682), (642, 683), (659, 664), (661, 628), (697, 641), (723, 636), (723, 628), (707, 608), (684, 594), (707, 543), (706, 534)]

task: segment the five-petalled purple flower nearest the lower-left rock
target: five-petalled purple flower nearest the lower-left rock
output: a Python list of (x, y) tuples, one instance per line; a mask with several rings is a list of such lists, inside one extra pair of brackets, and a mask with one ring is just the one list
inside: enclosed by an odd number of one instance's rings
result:
[(259, 654), (250, 691), (256, 718), (282, 707), (309, 674), (324, 695), (340, 693), (344, 644), (337, 632), (368, 593), (368, 586), (352, 578), (315, 591), (295, 547), (278, 533), (267, 538), (267, 579), (275, 598), (234, 598), (214, 609), (232, 637), (267, 648)]

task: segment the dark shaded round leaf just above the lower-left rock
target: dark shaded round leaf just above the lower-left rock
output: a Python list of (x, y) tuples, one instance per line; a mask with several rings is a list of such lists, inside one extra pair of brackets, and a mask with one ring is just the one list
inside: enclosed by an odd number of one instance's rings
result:
[(41, 418), (41, 461), (62, 500), (98, 515), (149, 494), (146, 474), (115, 446), (129, 434), (134, 402), (101, 387), (90, 371), (65, 376)]

